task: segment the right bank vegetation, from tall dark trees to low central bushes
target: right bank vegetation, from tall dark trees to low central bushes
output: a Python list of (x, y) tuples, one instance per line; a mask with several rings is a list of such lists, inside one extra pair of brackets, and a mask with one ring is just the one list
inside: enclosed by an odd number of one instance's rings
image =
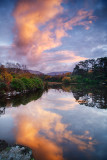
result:
[(62, 75), (45, 76), (45, 81), (85, 84), (107, 84), (107, 57), (80, 61), (73, 72)]

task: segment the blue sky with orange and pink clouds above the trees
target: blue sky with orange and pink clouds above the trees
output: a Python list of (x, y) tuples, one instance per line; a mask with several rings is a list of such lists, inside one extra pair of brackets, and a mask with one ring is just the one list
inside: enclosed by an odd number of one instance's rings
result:
[(107, 56), (107, 0), (0, 0), (0, 63), (44, 73)]

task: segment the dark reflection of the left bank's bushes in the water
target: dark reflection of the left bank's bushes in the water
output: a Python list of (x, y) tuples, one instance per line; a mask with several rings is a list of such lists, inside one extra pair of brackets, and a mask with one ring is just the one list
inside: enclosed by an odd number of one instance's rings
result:
[(43, 91), (38, 90), (37, 92), (28, 92), (10, 98), (2, 97), (0, 100), (0, 107), (18, 107), (21, 104), (26, 105), (27, 103), (40, 98), (42, 93)]

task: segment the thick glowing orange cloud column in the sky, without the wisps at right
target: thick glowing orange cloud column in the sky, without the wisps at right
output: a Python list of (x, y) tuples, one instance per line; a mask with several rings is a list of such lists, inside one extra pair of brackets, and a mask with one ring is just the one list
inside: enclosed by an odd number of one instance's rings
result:
[(32, 59), (32, 56), (35, 58), (44, 50), (58, 46), (64, 33), (59, 32), (60, 38), (57, 36), (55, 39), (51, 31), (53, 23), (46, 23), (61, 12), (61, 0), (19, 0), (14, 11), (15, 44), (19, 54), (27, 54)]

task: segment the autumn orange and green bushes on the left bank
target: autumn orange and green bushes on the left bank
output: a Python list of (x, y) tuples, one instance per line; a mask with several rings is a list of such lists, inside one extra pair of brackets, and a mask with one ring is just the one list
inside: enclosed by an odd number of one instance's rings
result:
[(43, 81), (27, 70), (0, 66), (0, 94), (43, 89)]

